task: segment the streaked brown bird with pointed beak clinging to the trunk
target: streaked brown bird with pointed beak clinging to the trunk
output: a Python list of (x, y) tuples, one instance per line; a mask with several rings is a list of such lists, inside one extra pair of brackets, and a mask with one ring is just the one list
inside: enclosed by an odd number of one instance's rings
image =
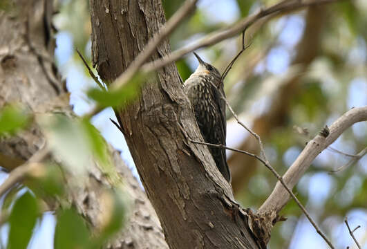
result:
[[(199, 65), (184, 82), (184, 89), (194, 111), (196, 122), (205, 142), (225, 145), (227, 121), (225, 119), (225, 92), (217, 68), (204, 62), (195, 52)], [(226, 181), (231, 182), (225, 149), (208, 146), (216, 167)]]

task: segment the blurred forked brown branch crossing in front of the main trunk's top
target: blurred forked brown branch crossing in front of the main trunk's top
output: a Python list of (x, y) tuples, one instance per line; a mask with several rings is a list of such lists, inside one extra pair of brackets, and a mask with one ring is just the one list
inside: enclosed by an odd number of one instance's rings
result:
[[(202, 48), (205, 46), (211, 46), (213, 44), (217, 44), (218, 42), (223, 41), (224, 39), (228, 39), (230, 37), (234, 37), (243, 30), (246, 30), (248, 27), (252, 26), (256, 21), (262, 19), (263, 17), (267, 17), (270, 15), (278, 15), (284, 12), (290, 12), (292, 10), (298, 10), (300, 8), (305, 8), (308, 6), (321, 5), (326, 3), (332, 3), (340, 0), (314, 0), (314, 1), (302, 1), (302, 0), (283, 0), (280, 3), (276, 3), (274, 6), (270, 6), (269, 8), (265, 8), (259, 11), (257, 14), (251, 15), (250, 17), (245, 17), (241, 19), (237, 24), (233, 26), (228, 26), (224, 30), (216, 31), (214, 33), (210, 33), (209, 35), (203, 37), (198, 42), (194, 42), (189, 46), (185, 46), (176, 51), (173, 51), (169, 55), (162, 57), (162, 59), (157, 59), (153, 62), (147, 62), (147, 59), (154, 53), (157, 46), (168, 37), (173, 30), (180, 24), (180, 21), (187, 17), (191, 10), (194, 10), (195, 4), (198, 0), (187, 0), (184, 5), (167, 21), (164, 26), (159, 30), (159, 32), (151, 39), (147, 46), (142, 50), (142, 52), (136, 57), (130, 66), (117, 77), (115, 82), (111, 84), (110, 89), (120, 89), (124, 86), (131, 78), (141, 71), (142, 73), (150, 73), (153, 71), (157, 71), (158, 69), (167, 66), (173, 62), (176, 62), (178, 59), (182, 58), (187, 53), (191, 53), (197, 48)], [(144, 64), (145, 63), (145, 64)], [(91, 112), (86, 114), (86, 116), (94, 116), (95, 114), (102, 111), (101, 107), (95, 107)]]

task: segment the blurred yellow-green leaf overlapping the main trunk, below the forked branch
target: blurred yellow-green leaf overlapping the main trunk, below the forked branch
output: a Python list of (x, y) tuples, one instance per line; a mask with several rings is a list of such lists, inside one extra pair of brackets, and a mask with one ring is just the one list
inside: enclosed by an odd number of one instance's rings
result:
[(122, 107), (123, 104), (126, 104), (126, 102), (138, 96), (140, 85), (147, 79), (148, 75), (138, 73), (122, 88), (115, 91), (104, 91), (102, 89), (93, 88), (88, 91), (88, 96), (102, 107)]

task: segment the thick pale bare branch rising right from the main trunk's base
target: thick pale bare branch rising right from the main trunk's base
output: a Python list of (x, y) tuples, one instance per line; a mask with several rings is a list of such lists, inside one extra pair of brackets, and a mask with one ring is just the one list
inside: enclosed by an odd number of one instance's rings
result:
[[(297, 160), (290, 166), (287, 172), (283, 176), (285, 183), (292, 189), (299, 181), (299, 178), (303, 176), (305, 171), (310, 167), (314, 158), (326, 149), (332, 142), (334, 142), (346, 129), (356, 122), (367, 120), (367, 107), (357, 107), (344, 113), (343, 116), (338, 118), (331, 126), (330, 133), (325, 138), (321, 135), (317, 135), (306, 145), (305, 149), (301, 152)], [(263, 203), (259, 212), (270, 212), (272, 210), (279, 213), (279, 211), (288, 203), (290, 196), (288, 191), (283, 187), (283, 184), (276, 183), (276, 186)]]

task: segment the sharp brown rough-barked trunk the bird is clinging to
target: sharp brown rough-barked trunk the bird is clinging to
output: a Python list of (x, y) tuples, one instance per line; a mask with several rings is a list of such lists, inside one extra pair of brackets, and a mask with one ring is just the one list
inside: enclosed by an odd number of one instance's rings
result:
[[(164, 24), (160, 0), (91, 0), (93, 63), (114, 80)], [(167, 42), (151, 59), (169, 54)], [(232, 189), (202, 140), (173, 64), (118, 111), (120, 125), (170, 248), (257, 248)]]

